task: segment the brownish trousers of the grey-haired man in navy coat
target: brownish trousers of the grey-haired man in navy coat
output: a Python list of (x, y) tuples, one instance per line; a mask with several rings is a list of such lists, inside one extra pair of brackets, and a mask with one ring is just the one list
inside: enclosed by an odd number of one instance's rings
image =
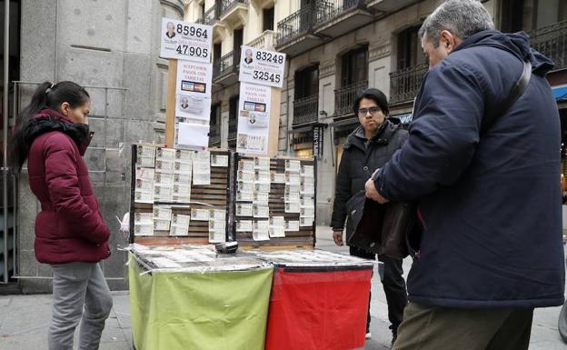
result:
[(528, 349), (533, 309), (458, 309), (410, 303), (393, 350)]

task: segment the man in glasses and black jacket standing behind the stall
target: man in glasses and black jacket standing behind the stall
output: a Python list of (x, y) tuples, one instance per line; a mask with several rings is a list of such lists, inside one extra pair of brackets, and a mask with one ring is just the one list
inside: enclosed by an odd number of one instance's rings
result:
[[(374, 170), (381, 167), (399, 149), (407, 138), (407, 131), (400, 123), (386, 119), (388, 102), (378, 89), (366, 89), (359, 93), (354, 101), (353, 112), (358, 115), (360, 126), (348, 136), (343, 147), (343, 157), (337, 174), (333, 204), (333, 239), (336, 245), (343, 245), (344, 221), (347, 217), (346, 202), (353, 195), (364, 190), (364, 183)], [(353, 232), (347, 222), (347, 235)], [(366, 259), (375, 259), (375, 255), (363, 249), (351, 246), (351, 255)], [(388, 302), (388, 318), (393, 341), (397, 336), (398, 325), (402, 323), (403, 307), (407, 304), (407, 292), (403, 280), (402, 259), (379, 255), (384, 264), (383, 290)], [(370, 338), (370, 297), (366, 321), (366, 338)]]

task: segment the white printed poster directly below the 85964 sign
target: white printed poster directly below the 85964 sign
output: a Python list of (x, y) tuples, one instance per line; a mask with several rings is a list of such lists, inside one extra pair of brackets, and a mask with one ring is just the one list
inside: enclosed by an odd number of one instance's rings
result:
[(178, 61), (175, 115), (208, 122), (211, 118), (212, 86), (213, 65)]

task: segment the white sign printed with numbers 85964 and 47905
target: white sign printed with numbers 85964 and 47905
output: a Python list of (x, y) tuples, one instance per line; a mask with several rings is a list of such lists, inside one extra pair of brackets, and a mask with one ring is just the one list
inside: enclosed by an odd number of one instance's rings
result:
[(213, 27), (170, 18), (162, 19), (160, 56), (195, 62), (211, 62)]

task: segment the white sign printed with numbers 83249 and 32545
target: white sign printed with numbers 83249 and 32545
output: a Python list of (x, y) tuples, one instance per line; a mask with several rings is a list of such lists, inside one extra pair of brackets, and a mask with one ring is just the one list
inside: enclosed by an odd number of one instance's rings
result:
[(242, 46), (239, 80), (246, 83), (282, 87), (285, 54)]

